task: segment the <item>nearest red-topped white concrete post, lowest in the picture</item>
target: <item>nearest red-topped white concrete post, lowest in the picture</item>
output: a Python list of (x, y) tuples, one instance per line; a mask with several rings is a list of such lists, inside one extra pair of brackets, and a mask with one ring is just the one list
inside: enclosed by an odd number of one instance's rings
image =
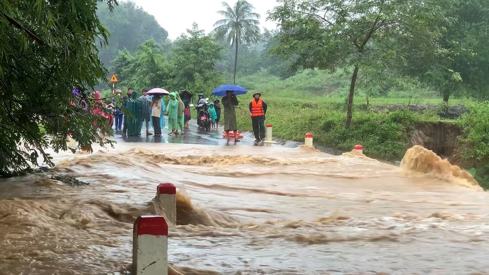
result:
[(135, 275), (168, 275), (168, 224), (163, 216), (139, 216), (133, 227)]

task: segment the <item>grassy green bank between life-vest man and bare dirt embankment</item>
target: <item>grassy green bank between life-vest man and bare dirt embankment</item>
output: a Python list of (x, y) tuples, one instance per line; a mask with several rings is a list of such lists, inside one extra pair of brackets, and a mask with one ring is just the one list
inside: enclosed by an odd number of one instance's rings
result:
[[(408, 111), (390, 114), (356, 112), (349, 129), (343, 127), (344, 112), (314, 100), (292, 100), (263, 96), (268, 107), (267, 121), (273, 125), (274, 137), (304, 141), (304, 134), (314, 135), (314, 144), (351, 151), (356, 144), (364, 154), (381, 160), (400, 160), (411, 146), (409, 134), (416, 123), (439, 119), (436, 115), (419, 115)], [(238, 127), (251, 131), (247, 100), (240, 97)]]

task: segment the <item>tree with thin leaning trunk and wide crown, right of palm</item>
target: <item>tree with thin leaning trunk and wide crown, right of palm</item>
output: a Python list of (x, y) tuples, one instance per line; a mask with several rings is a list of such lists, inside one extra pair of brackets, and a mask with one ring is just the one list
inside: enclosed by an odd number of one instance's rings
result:
[(345, 127), (353, 114), (360, 69), (383, 70), (439, 53), (444, 0), (279, 0), (270, 14), (281, 24), (274, 52), (291, 68), (352, 68)]

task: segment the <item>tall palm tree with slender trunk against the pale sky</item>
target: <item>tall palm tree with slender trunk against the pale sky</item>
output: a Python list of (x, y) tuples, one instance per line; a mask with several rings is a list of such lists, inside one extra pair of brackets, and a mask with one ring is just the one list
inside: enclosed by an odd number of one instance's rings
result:
[(231, 8), (222, 2), (224, 10), (218, 11), (224, 17), (214, 24), (216, 39), (226, 39), (235, 46), (233, 84), (236, 84), (236, 68), (238, 67), (238, 45), (241, 42), (256, 43), (260, 39), (260, 15), (252, 12), (254, 7), (246, 0), (238, 0)]

